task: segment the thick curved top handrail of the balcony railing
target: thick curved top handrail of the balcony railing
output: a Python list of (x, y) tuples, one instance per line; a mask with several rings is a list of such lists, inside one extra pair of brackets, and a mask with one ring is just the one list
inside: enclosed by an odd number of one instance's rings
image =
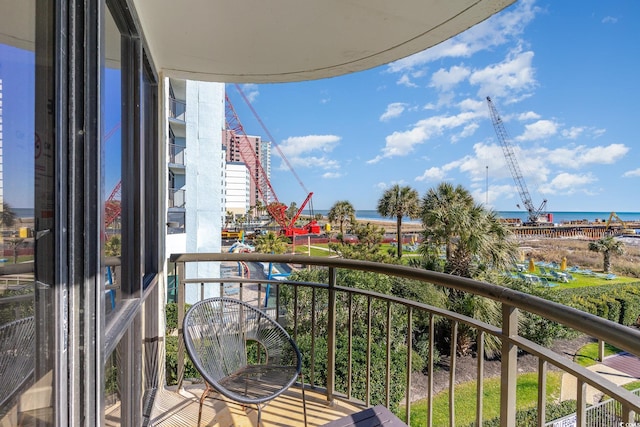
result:
[(276, 262), (284, 264), (318, 265), (333, 268), (369, 271), (408, 279), (420, 280), (469, 292), (490, 298), (524, 311), (538, 314), (547, 319), (561, 323), (589, 336), (606, 342), (633, 354), (640, 355), (640, 331), (623, 326), (601, 317), (585, 313), (544, 298), (529, 295), (503, 286), (480, 282), (450, 274), (422, 270), (395, 264), (383, 264), (370, 261), (327, 258), (301, 255), (274, 255), (257, 253), (190, 253), (172, 254), (171, 262), (210, 262), (210, 261), (245, 261)]

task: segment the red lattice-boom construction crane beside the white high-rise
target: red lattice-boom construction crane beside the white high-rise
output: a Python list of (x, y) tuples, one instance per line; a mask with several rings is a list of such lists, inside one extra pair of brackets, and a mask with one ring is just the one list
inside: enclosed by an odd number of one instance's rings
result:
[[(264, 168), (260, 163), (260, 159), (258, 159), (258, 156), (255, 153), (254, 147), (252, 147), (249, 142), (250, 139), (244, 131), (244, 127), (242, 126), (242, 123), (240, 122), (240, 119), (238, 118), (238, 115), (233, 108), (233, 104), (231, 103), (229, 96), (226, 94), (225, 121), (227, 130), (232, 132), (233, 136), (238, 137), (238, 149), (240, 152), (240, 157), (249, 169), (249, 175), (251, 176), (251, 179), (256, 187), (256, 191), (258, 191), (260, 197), (267, 205), (267, 212), (269, 212), (269, 215), (271, 215), (271, 217), (281, 227), (281, 233), (287, 237), (291, 237), (294, 234), (320, 234), (320, 226), (318, 225), (318, 222), (313, 218), (303, 227), (295, 226), (296, 221), (300, 217), (300, 214), (313, 196), (313, 193), (311, 192), (307, 195), (307, 198), (302, 203), (298, 211), (292, 216), (292, 218), (287, 218), (287, 206), (278, 200), (276, 192), (273, 189), (271, 182), (269, 181), (269, 177), (264, 171)], [(254, 166), (256, 170), (251, 170), (251, 168)], [(299, 178), (298, 181), (301, 182)]]

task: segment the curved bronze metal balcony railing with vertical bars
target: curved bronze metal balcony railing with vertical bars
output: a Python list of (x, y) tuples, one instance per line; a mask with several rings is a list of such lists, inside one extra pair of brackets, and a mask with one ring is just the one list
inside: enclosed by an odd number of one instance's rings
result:
[[(383, 404), (402, 412), (405, 422), (411, 424), (412, 414), (412, 357), (417, 346), (426, 345), (427, 357), (427, 407), (426, 425), (433, 425), (434, 408), (434, 329), (436, 324), (448, 324), (449, 340), (449, 389), (448, 423), (457, 425), (456, 404), (456, 343), (463, 328), (473, 330), (477, 336), (477, 376), (475, 379), (476, 405), (475, 425), (482, 425), (484, 395), (485, 338), (499, 341), (501, 360), (500, 375), (500, 423), (503, 426), (516, 424), (516, 379), (518, 377), (518, 352), (525, 351), (538, 358), (538, 425), (545, 425), (546, 381), (550, 369), (559, 370), (575, 377), (575, 423), (572, 425), (595, 425), (588, 420), (587, 408), (592, 402), (587, 399), (587, 387), (609, 396), (616, 402), (616, 420), (619, 423), (637, 423), (640, 418), (640, 398), (617, 386), (598, 373), (592, 372), (562, 354), (538, 345), (518, 333), (522, 312), (541, 316), (560, 325), (583, 332), (597, 339), (603, 347), (606, 341), (631, 354), (640, 355), (640, 333), (632, 328), (616, 324), (603, 318), (551, 302), (536, 296), (518, 292), (502, 286), (479, 282), (447, 274), (412, 267), (345, 260), (324, 257), (302, 257), (296, 255), (268, 254), (174, 254), (178, 281), (178, 330), (182, 330), (185, 313), (185, 285), (199, 285), (201, 296), (204, 288), (213, 286), (222, 294), (234, 294), (246, 300), (249, 287), (256, 288), (253, 301), (270, 311), (283, 323), (296, 339), (305, 354), (305, 381), (312, 388), (324, 389), (326, 398), (361, 401), (366, 406)], [(309, 283), (289, 280), (262, 280), (239, 277), (187, 277), (186, 271), (196, 271), (187, 264), (198, 262), (250, 262), (296, 264), (308, 268), (325, 269), (326, 282)], [(341, 286), (341, 270), (375, 274), (394, 280), (410, 279), (415, 286), (439, 285), (493, 300), (501, 307), (502, 321), (493, 325), (444, 310), (429, 304), (384, 295), (366, 289)], [(244, 271), (241, 269), (241, 271)], [(362, 273), (364, 272), (364, 273)], [(173, 273), (172, 273), (173, 274)], [(275, 302), (265, 306), (268, 287), (276, 288)], [(255, 289), (252, 290), (255, 293)], [(416, 342), (414, 325), (420, 319), (426, 324), (426, 342)], [(363, 328), (364, 325), (364, 329)], [(304, 334), (303, 334), (304, 331)], [(363, 332), (364, 331), (364, 332)], [(179, 332), (181, 333), (181, 332)], [(179, 340), (182, 343), (182, 339)], [(404, 347), (404, 351), (402, 351)], [(357, 351), (356, 351), (357, 349)], [(385, 366), (373, 366), (374, 354), (385, 360)], [(399, 361), (398, 355), (402, 361)], [(363, 356), (364, 355), (364, 356)], [(377, 360), (381, 358), (378, 357)], [(178, 348), (178, 380), (184, 373), (184, 348)], [(323, 369), (322, 372), (319, 368)], [(326, 369), (326, 371), (324, 371)], [(374, 375), (375, 371), (375, 375)], [(380, 375), (380, 372), (383, 372)], [(397, 373), (403, 372), (398, 378)], [(401, 390), (397, 390), (398, 381)], [(394, 389), (394, 387), (396, 387)], [(398, 402), (393, 395), (403, 397)], [(375, 397), (373, 397), (375, 396)], [(373, 400), (376, 401), (373, 401)], [(379, 401), (381, 400), (381, 401)], [(395, 406), (394, 406), (395, 405)], [(622, 425), (622, 424), (621, 424)], [(626, 424), (631, 425), (631, 424)]]

